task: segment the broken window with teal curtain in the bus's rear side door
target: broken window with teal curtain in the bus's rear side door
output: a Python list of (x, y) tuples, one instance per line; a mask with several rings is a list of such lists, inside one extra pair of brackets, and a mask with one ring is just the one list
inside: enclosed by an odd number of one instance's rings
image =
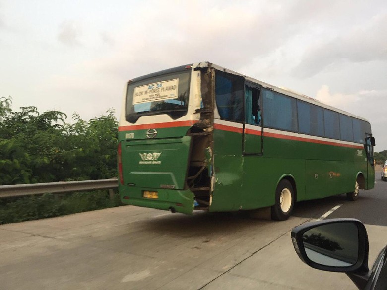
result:
[(260, 125), (260, 91), (257, 88), (245, 86), (245, 121), (248, 124)]

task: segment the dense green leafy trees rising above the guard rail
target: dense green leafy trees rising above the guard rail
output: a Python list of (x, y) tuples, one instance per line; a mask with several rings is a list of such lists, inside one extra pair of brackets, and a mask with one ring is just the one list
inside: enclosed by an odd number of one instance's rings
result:
[(0, 185), (117, 175), (114, 110), (88, 122), (75, 113), (68, 124), (60, 111), (10, 105), (10, 97), (0, 98)]

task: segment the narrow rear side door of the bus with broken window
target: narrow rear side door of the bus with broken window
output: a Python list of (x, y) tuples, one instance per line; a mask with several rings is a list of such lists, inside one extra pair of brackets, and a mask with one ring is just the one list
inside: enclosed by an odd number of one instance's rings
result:
[(262, 117), (260, 87), (245, 83), (243, 155), (262, 155)]

